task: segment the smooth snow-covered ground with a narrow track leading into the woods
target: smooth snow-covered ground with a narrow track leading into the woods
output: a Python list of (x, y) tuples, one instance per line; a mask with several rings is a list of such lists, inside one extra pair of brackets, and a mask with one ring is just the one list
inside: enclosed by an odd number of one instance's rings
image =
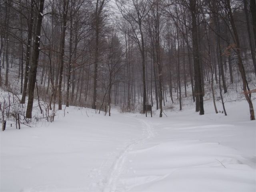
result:
[(53, 123), (8, 127), (0, 191), (255, 191), (256, 122), (245, 101), (226, 110), (145, 118), (70, 107)]

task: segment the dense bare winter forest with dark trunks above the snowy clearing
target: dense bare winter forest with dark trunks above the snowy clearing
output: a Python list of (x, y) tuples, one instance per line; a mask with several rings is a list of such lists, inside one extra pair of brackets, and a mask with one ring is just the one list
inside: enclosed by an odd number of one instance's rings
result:
[(109, 116), (148, 104), (162, 117), (169, 101), (203, 115), (210, 99), (226, 114), (240, 97), (254, 120), (256, 2), (1, 0), (0, 86), (12, 93), (1, 94), (3, 119), (14, 100), (26, 104), (14, 116), (32, 118), (38, 102), (52, 121), (63, 104)]

